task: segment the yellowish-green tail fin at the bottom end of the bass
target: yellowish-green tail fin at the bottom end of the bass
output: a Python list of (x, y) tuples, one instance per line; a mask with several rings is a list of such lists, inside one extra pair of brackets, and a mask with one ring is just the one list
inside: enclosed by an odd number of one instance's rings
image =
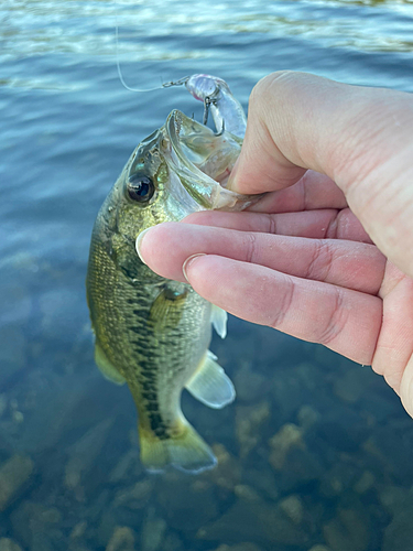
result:
[(169, 465), (188, 473), (200, 473), (217, 464), (211, 449), (185, 421), (181, 434), (164, 440), (139, 425), (141, 461), (152, 472), (162, 472)]

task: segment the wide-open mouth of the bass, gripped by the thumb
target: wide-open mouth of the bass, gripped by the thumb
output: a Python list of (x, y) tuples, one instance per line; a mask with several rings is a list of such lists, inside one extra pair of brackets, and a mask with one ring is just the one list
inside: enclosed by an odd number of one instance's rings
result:
[(166, 163), (188, 194), (206, 209), (243, 210), (260, 196), (241, 195), (222, 187), (241, 150), (241, 140), (229, 132), (218, 134), (174, 109), (166, 119), (170, 144)]

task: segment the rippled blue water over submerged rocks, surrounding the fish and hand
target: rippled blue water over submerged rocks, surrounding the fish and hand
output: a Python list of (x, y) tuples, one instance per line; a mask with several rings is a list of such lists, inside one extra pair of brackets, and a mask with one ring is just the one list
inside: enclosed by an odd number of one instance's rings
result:
[(183, 399), (220, 466), (142, 471), (128, 389), (93, 361), (89, 236), (139, 140), (202, 106), (181, 88), (123, 89), (116, 20), (132, 87), (205, 72), (247, 106), (260, 77), (290, 68), (413, 91), (411, 1), (1, 2), (0, 538), (24, 551), (410, 549), (399, 399), (369, 368), (235, 318), (213, 349), (237, 402)]

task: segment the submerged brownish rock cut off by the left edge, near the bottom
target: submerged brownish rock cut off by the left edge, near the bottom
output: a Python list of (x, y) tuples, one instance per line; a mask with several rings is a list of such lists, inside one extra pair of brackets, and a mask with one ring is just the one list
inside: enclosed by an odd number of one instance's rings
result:
[(33, 462), (24, 455), (13, 455), (0, 467), (0, 511), (7, 509), (33, 473)]

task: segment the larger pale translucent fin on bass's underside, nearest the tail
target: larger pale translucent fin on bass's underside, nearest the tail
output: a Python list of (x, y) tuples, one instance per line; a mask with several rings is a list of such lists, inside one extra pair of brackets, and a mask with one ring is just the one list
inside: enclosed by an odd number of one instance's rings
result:
[(231, 379), (215, 360), (217, 357), (207, 350), (204, 360), (185, 388), (209, 408), (220, 409), (233, 401), (236, 391)]

